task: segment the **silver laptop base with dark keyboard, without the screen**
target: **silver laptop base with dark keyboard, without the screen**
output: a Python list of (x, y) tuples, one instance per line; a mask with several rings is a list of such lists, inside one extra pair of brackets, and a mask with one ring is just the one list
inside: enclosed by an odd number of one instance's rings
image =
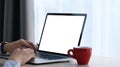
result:
[(49, 64), (49, 63), (60, 63), (60, 62), (69, 62), (70, 57), (59, 55), (59, 54), (53, 54), (53, 53), (46, 53), (46, 52), (37, 52), (36, 57), (27, 62), (28, 64)]

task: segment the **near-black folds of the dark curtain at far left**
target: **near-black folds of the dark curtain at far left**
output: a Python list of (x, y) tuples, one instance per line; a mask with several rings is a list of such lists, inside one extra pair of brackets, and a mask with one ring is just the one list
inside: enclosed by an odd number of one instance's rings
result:
[(4, 0), (3, 41), (15, 41), (20, 38), (19, 0)]

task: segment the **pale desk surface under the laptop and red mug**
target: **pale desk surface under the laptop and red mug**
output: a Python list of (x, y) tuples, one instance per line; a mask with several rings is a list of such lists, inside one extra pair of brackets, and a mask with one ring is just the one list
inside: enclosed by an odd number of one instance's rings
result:
[[(0, 63), (6, 60), (0, 59)], [(120, 67), (120, 58), (92, 56), (88, 65), (77, 65), (75, 61), (43, 65), (25, 64), (22, 67)]]

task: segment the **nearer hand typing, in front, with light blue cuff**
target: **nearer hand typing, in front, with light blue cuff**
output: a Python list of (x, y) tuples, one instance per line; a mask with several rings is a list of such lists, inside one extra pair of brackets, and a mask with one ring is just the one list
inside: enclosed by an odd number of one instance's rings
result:
[(10, 60), (15, 60), (20, 65), (25, 64), (27, 61), (35, 57), (34, 50), (31, 48), (17, 48), (10, 56)]

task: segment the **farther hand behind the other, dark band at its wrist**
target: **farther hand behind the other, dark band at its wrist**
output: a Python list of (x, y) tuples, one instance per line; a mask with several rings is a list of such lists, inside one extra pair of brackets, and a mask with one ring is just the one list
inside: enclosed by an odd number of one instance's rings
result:
[(34, 52), (36, 52), (36, 48), (34, 44), (32, 42), (27, 42), (24, 39), (20, 39), (20, 40), (5, 44), (3, 50), (5, 52), (12, 53), (17, 48), (31, 48), (34, 50)]

